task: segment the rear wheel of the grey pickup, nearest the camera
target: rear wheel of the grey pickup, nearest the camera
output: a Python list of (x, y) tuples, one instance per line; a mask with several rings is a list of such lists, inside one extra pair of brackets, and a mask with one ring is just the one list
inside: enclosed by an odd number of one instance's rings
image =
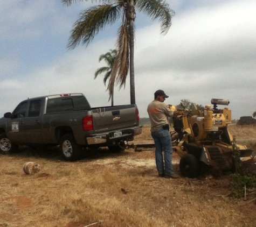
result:
[(60, 138), (60, 152), (66, 161), (75, 161), (81, 158), (82, 146), (77, 144), (72, 134), (64, 134)]

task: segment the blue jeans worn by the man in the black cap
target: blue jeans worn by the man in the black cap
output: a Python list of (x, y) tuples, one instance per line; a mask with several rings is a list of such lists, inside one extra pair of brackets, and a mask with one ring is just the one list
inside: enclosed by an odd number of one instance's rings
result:
[[(155, 141), (156, 147), (156, 168), (158, 174), (170, 175), (173, 173), (172, 168), (172, 144), (171, 135), (169, 130), (160, 129), (156, 132), (151, 132), (151, 136)], [(164, 150), (164, 161), (163, 161), (163, 150)]]

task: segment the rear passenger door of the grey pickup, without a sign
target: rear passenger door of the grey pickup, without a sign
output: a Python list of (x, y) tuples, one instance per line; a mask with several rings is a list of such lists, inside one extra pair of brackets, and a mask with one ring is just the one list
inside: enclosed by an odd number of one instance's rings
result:
[(41, 107), (42, 101), (31, 100), (29, 103), (29, 112), (24, 119), (26, 141), (30, 144), (40, 144), (43, 141), (41, 136)]

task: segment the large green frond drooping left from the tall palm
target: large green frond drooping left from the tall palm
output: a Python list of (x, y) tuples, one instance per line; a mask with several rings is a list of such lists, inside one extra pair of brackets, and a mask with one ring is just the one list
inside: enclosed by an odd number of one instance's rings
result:
[(119, 18), (120, 8), (113, 5), (93, 6), (82, 13), (80, 18), (73, 25), (68, 48), (73, 49), (82, 42), (88, 45), (96, 34), (107, 24), (113, 24)]

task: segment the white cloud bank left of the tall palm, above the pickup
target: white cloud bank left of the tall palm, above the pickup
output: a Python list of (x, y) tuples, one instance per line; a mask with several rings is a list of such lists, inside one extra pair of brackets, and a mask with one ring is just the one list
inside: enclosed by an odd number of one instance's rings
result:
[[(34, 69), (25, 79), (18, 77), (2, 80), (0, 115), (13, 111), (19, 102), (28, 97), (63, 93), (84, 93), (92, 107), (111, 105), (103, 84), (103, 75), (94, 80), (94, 73), (101, 67), (98, 62), (100, 54), (108, 52), (113, 41), (96, 42), (86, 51), (81, 48), (69, 51), (51, 65)], [(130, 102), (128, 88), (125, 91), (116, 89), (115, 96), (115, 104)]]

